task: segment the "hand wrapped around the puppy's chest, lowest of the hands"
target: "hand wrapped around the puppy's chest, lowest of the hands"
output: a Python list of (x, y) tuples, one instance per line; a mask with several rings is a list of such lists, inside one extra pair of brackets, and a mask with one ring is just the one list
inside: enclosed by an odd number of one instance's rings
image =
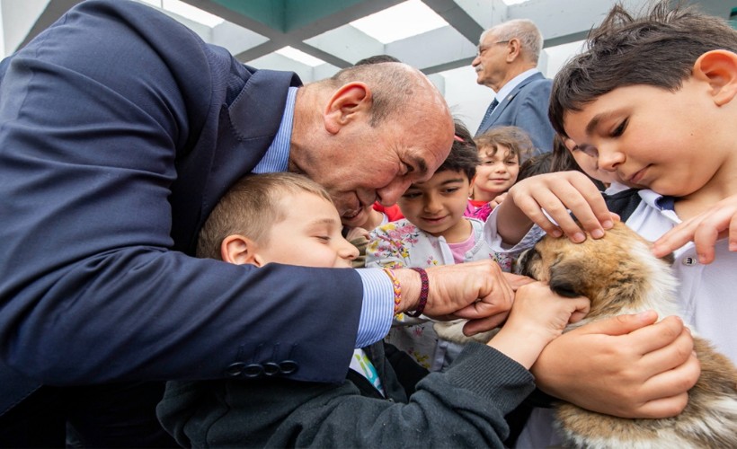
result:
[(683, 321), (656, 320), (654, 312), (619, 315), (565, 333), (533, 365), (538, 387), (622, 418), (679, 414), (701, 369)]

